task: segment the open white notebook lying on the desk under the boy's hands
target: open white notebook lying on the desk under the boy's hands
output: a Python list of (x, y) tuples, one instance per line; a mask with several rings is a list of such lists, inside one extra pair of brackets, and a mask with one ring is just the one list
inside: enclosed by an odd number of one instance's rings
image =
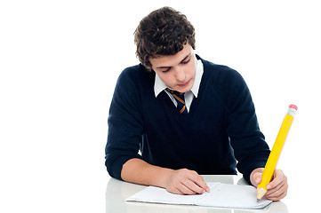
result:
[(256, 200), (256, 188), (252, 185), (229, 185), (219, 182), (207, 183), (211, 191), (196, 195), (168, 193), (164, 188), (148, 186), (125, 201), (141, 201), (164, 204), (209, 206), (229, 209), (263, 209), (272, 201)]

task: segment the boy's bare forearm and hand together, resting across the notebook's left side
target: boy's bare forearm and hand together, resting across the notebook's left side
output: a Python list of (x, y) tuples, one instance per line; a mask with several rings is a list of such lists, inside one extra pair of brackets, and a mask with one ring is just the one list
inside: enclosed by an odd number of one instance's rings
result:
[(153, 166), (138, 158), (124, 163), (121, 177), (124, 181), (135, 184), (163, 187), (170, 193), (196, 194), (210, 190), (203, 177), (194, 170), (170, 170)]

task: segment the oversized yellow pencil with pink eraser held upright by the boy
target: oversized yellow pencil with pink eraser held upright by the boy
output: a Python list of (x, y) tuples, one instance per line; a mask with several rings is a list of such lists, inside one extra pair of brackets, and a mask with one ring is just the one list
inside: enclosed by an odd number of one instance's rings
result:
[(285, 119), (283, 120), (281, 128), (278, 131), (276, 142), (274, 143), (272, 151), (269, 154), (268, 162), (263, 170), (261, 184), (257, 187), (257, 201), (260, 201), (264, 194), (268, 192), (267, 185), (271, 181), (274, 171), (276, 170), (278, 157), (280, 156), (282, 148), (285, 144), (287, 133), (290, 130), (297, 109), (297, 106), (290, 105), (287, 110)]

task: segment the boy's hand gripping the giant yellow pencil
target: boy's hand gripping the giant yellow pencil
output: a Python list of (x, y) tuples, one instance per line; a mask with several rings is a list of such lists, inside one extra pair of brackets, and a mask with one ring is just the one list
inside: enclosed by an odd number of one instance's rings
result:
[[(251, 173), (250, 180), (255, 187), (261, 183), (263, 170), (264, 168), (258, 168)], [(282, 170), (276, 170), (272, 181), (267, 185), (268, 192), (264, 196), (271, 201), (279, 201), (285, 197), (287, 188), (287, 177)]]

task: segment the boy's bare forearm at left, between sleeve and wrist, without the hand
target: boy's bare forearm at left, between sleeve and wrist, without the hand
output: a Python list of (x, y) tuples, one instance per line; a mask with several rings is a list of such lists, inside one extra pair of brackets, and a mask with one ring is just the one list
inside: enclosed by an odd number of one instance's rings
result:
[(134, 184), (165, 187), (172, 171), (134, 158), (124, 163), (121, 176), (124, 181)]

